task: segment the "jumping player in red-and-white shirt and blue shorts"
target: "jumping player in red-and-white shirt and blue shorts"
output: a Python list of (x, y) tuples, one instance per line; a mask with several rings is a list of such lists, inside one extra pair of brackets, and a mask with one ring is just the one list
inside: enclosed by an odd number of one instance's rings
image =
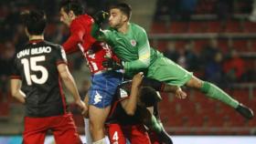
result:
[[(82, 51), (91, 69), (91, 88), (89, 90), (89, 118), (92, 141), (105, 143), (104, 122), (107, 118), (116, 87), (122, 82), (123, 74), (107, 70), (102, 66), (105, 57), (112, 57), (112, 51), (103, 42), (91, 36), (93, 19), (83, 14), (83, 7), (77, 1), (62, 1), (60, 21), (69, 26), (70, 36), (63, 44), (65, 51)], [(87, 143), (91, 143), (88, 119), (85, 118)]]

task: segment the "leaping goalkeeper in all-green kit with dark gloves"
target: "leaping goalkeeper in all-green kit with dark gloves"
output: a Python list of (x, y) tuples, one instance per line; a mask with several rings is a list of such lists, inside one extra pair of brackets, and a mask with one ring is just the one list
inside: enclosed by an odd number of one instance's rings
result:
[[(214, 84), (193, 76), (191, 72), (150, 47), (144, 28), (129, 22), (131, 15), (131, 6), (121, 3), (111, 6), (110, 16), (103, 11), (94, 16), (95, 24), (91, 35), (106, 41), (112, 46), (112, 51), (117, 57), (122, 60), (122, 65), (118, 66), (109, 59), (104, 62), (105, 67), (123, 67), (126, 77), (133, 77), (134, 74), (143, 71), (145, 77), (154, 78), (169, 85), (197, 88), (208, 98), (219, 99), (235, 108), (243, 117), (253, 117), (251, 108), (247, 108), (236, 99), (231, 98)], [(101, 22), (107, 18), (111, 27), (101, 30)]]

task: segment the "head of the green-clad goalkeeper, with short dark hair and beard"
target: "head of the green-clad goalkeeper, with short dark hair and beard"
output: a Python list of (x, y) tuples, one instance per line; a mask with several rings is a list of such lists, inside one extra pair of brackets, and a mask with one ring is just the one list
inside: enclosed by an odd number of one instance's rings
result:
[(129, 22), (132, 16), (132, 8), (130, 5), (120, 3), (110, 7), (109, 24), (114, 28), (123, 26), (124, 23)]

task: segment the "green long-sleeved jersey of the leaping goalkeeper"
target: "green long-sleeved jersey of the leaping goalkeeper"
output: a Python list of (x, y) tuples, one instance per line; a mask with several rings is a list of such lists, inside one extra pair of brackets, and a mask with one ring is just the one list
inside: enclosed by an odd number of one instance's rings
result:
[(102, 32), (101, 38), (107, 41), (117, 57), (123, 60), (125, 74), (128, 76), (145, 71), (157, 57), (163, 56), (149, 46), (148, 37), (141, 26), (130, 23), (127, 34), (119, 33), (113, 28)]

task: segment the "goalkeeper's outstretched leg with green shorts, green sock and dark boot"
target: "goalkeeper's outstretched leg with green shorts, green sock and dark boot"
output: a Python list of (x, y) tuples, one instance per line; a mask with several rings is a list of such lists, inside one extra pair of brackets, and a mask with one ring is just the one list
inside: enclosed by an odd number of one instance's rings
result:
[(237, 108), (241, 115), (246, 118), (253, 116), (251, 109), (244, 107), (234, 98), (229, 97), (227, 93), (215, 85), (203, 82), (197, 77), (193, 77), (192, 73), (186, 69), (176, 65), (172, 60), (161, 57), (149, 68), (147, 77), (155, 78), (169, 85), (195, 87), (200, 89), (208, 98), (219, 99), (232, 108)]

